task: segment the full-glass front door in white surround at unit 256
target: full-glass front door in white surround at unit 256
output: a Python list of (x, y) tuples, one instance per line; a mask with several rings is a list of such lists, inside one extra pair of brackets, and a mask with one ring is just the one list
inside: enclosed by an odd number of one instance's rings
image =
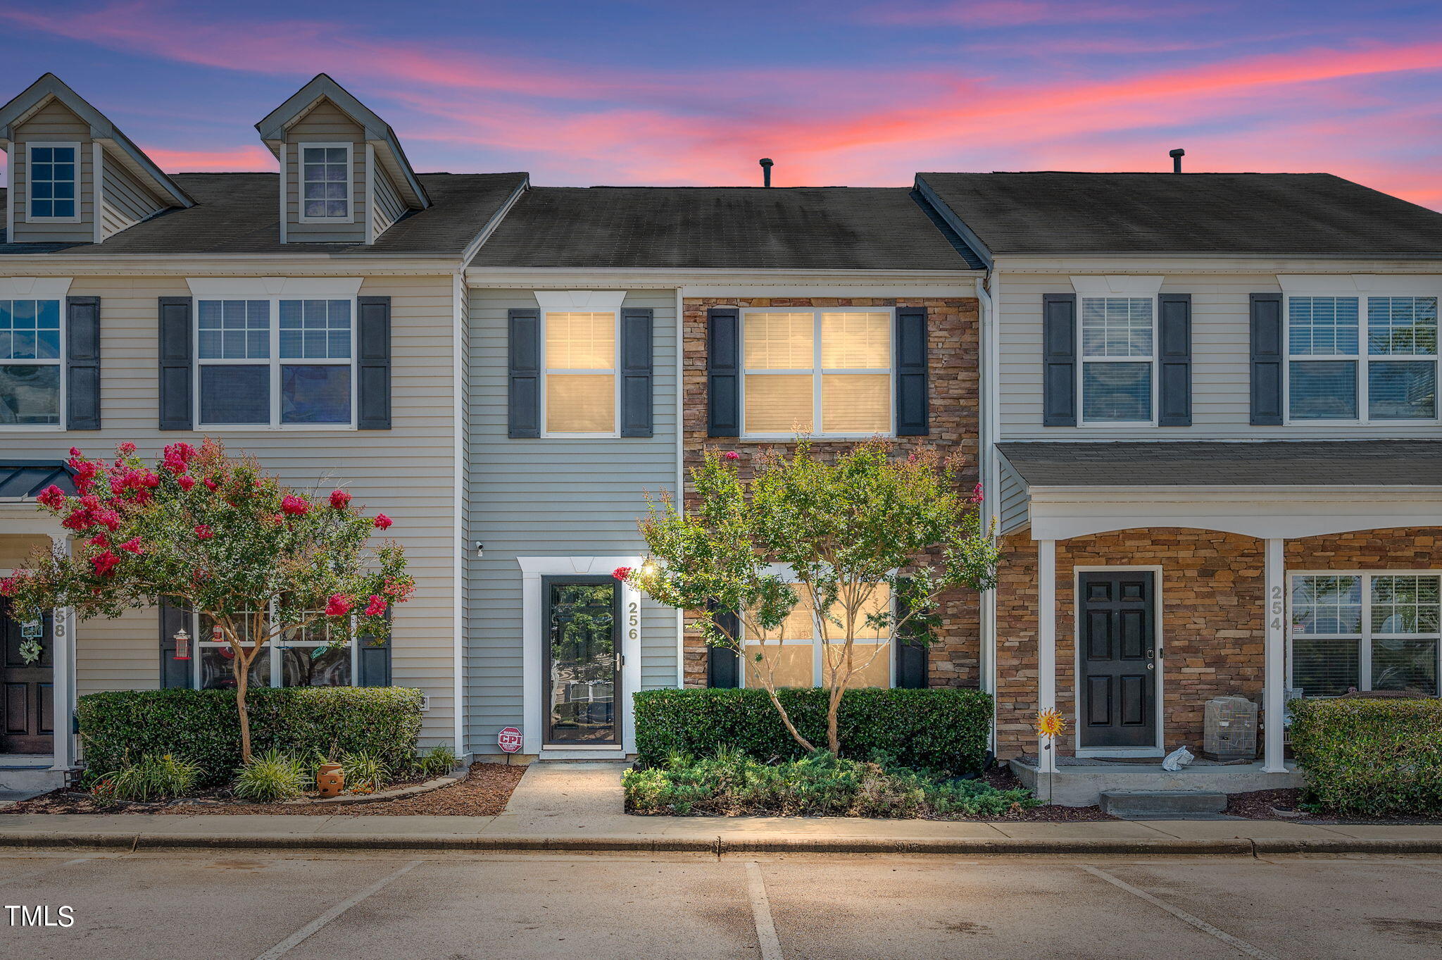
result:
[(547, 745), (619, 744), (620, 590), (611, 577), (545, 577)]

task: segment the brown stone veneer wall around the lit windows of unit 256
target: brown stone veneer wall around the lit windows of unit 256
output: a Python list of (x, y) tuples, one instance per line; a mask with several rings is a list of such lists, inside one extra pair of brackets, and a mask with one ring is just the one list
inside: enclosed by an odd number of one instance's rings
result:
[[(747, 476), (756, 455), (769, 448), (795, 444), (707, 437), (707, 310), (709, 307), (926, 307), (930, 350), (930, 437), (901, 437), (898, 450), (936, 447), (943, 455), (960, 454), (968, 461), (966, 486), (976, 480), (978, 404), (981, 391), (978, 303), (973, 297), (688, 297), (684, 301), (684, 466), (695, 467), (707, 447), (741, 454)], [(849, 443), (816, 441), (813, 450), (835, 455)], [(688, 474), (689, 476), (689, 474)], [(689, 496), (688, 484), (688, 496)], [(707, 685), (707, 647), (686, 618), (686, 686)], [(978, 686), (981, 611), (976, 594), (957, 594), (943, 601), (942, 627), (930, 649), (932, 686)]]

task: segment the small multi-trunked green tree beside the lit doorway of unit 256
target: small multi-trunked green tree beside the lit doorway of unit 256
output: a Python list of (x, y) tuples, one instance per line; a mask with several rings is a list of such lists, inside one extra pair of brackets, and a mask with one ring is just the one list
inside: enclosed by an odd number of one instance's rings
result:
[[(746, 659), (747, 646), (758, 644), (753, 675), (790, 735), (813, 751), (776, 696), (777, 657), (766, 656), (769, 634), (797, 607), (808, 611), (829, 693), (826, 748), (838, 752), (836, 714), (851, 679), (888, 644), (927, 643), (945, 591), (995, 584), (996, 545), (981, 529), (981, 484), (968, 496), (955, 460), (933, 450), (893, 458), (880, 440), (828, 463), (799, 438), (790, 455), (761, 454), (751, 480), (740, 477), (738, 460), (705, 451), (691, 471), (695, 506), (682, 512), (669, 494), (655, 499), (640, 520), (650, 556), (616, 575), (668, 607), (694, 611), (711, 646)], [(735, 614), (738, 626), (724, 614)], [(858, 650), (859, 634), (870, 652)]]

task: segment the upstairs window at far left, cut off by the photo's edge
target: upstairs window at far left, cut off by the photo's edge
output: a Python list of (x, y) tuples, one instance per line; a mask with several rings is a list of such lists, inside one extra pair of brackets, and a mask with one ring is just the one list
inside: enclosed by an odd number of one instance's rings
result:
[(61, 357), (59, 300), (0, 300), (0, 425), (59, 425)]

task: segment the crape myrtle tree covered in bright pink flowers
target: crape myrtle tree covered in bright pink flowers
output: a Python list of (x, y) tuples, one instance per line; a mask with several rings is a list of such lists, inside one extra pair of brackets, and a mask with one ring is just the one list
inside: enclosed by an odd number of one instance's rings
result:
[[(392, 604), (415, 581), (394, 541), (371, 548), (389, 517), (365, 516), (345, 490), (313, 496), (283, 486), (252, 457), (206, 440), (172, 444), (149, 467), (134, 444), (114, 460), (71, 448), (78, 496), (50, 486), (39, 506), (75, 535), (71, 552), (40, 552), (0, 581), (19, 614), (71, 607), (81, 620), (162, 601), (206, 615), (234, 654), (241, 758), (251, 761), (249, 669), (283, 637), (324, 630), (330, 644), (389, 637)], [(324, 649), (324, 647), (322, 647)]]

